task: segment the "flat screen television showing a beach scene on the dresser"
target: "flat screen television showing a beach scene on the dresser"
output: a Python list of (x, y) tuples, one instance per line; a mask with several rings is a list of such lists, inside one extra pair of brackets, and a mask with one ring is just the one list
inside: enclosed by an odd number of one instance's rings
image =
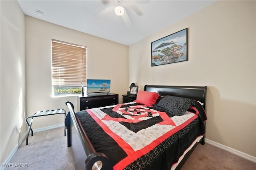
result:
[(87, 94), (110, 93), (110, 80), (87, 79)]

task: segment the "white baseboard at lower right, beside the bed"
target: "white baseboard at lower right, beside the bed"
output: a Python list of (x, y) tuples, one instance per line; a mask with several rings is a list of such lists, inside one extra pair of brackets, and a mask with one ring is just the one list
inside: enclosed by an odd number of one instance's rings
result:
[(254, 157), (254, 156), (251, 156), (251, 155), (246, 154), (246, 153), (244, 153), (244, 152), (241, 152), (241, 151), (239, 151), (239, 150), (236, 150), (236, 149), (227, 147), (227, 146), (222, 145), (222, 144), (220, 144), (220, 143), (211, 141), (211, 140), (209, 140), (209, 139), (205, 139), (205, 142), (206, 142), (206, 143), (209, 143), (209, 144), (211, 144), (211, 145), (214, 145), (215, 147), (218, 147), (218, 148), (220, 148), (220, 149), (226, 150), (226, 151), (228, 151), (228, 152), (231, 152), (231, 153), (233, 153), (233, 154), (236, 154), (236, 155), (238, 155), (238, 156), (241, 156), (242, 158), (245, 158), (245, 159), (247, 159), (247, 160), (250, 160), (250, 161), (256, 163), (256, 157)]

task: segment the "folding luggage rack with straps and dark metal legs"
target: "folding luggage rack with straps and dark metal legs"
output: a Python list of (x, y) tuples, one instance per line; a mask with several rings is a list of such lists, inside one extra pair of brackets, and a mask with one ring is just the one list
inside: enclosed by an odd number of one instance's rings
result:
[[(37, 111), (36, 113), (34, 113), (34, 115), (26, 117), (25, 121), (28, 124), (28, 133), (27, 133), (27, 137), (26, 137), (26, 145), (28, 145), (28, 136), (29, 136), (30, 131), (31, 131), (31, 136), (33, 136), (33, 130), (31, 128), (31, 126), (32, 126), (32, 122), (33, 122), (34, 117), (57, 115), (57, 114), (64, 114), (65, 117), (66, 117), (66, 111), (64, 109)], [(29, 118), (32, 118), (30, 120), (30, 123), (28, 123)], [(66, 127), (65, 127), (65, 125), (64, 125), (64, 136), (66, 136)]]

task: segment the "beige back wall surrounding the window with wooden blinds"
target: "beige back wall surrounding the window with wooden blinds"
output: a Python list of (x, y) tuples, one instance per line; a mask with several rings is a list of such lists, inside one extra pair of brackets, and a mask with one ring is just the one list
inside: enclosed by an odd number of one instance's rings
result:
[[(88, 78), (110, 79), (113, 93), (128, 89), (128, 46), (25, 16), (26, 26), (26, 108), (27, 116), (45, 109), (64, 108), (67, 100), (79, 105), (78, 97), (52, 98), (51, 39), (88, 47)], [(62, 115), (34, 119), (34, 129), (58, 125)]]

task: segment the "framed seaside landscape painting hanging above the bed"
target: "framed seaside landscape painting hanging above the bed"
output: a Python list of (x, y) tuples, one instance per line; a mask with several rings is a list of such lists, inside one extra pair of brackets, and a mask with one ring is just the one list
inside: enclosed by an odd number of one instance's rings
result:
[(151, 66), (188, 61), (188, 28), (151, 43)]

